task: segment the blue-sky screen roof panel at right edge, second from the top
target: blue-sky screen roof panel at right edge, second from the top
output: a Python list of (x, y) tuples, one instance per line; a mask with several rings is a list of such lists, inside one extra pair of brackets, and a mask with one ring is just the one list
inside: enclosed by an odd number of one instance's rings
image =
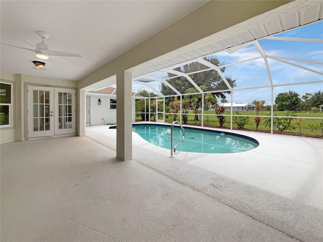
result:
[(322, 62), (323, 43), (261, 39), (266, 55)]

